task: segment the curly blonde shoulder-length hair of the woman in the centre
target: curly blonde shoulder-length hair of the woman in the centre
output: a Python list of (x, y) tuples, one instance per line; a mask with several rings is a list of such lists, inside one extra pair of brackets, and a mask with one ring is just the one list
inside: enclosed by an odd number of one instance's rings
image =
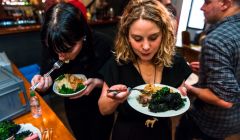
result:
[(138, 19), (155, 23), (162, 31), (162, 41), (152, 59), (155, 65), (170, 67), (175, 54), (174, 19), (168, 10), (157, 0), (131, 0), (124, 10), (115, 41), (116, 61), (136, 62), (137, 57), (128, 41), (129, 29)]

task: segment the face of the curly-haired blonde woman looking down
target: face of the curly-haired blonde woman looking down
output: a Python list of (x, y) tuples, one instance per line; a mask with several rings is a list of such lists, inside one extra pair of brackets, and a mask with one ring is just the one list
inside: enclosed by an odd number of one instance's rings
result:
[(151, 61), (162, 40), (160, 28), (152, 21), (138, 19), (130, 26), (129, 43), (142, 61)]

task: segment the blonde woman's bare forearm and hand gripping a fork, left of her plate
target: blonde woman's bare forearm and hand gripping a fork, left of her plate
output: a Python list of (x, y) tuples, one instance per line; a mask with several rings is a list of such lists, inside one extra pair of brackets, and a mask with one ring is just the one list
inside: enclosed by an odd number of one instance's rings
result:
[(120, 92), (117, 95), (113, 93), (107, 93), (108, 89), (108, 85), (104, 82), (102, 94), (98, 100), (99, 110), (102, 115), (112, 114), (117, 109), (118, 105), (124, 102), (129, 95), (127, 87), (124, 85), (115, 85), (110, 88), (123, 90), (123, 92)]

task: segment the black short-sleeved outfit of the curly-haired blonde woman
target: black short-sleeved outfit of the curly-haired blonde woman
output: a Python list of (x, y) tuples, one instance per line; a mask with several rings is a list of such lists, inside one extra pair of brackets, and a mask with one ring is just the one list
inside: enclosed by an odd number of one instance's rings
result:
[[(104, 80), (109, 87), (115, 84), (124, 84), (128, 87), (136, 87), (145, 84), (141, 75), (132, 63), (119, 65), (113, 57), (106, 63), (106, 65), (104, 65), (101, 73), (103, 74)], [(162, 82), (159, 84), (169, 85), (177, 88), (181, 85), (183, 80), (188, 78), (190, 74), (191, 69), (187, 65), (186, 61), (182, 57), (176, 55), (174, 56), (174, 63), (172, 67), (163, 68)], [(152, 117), (135, 111), (129, 106), (127, 101), (125, 101), (123, 104), (120, 104), (117, 110), (118, 118), (113, 130), (114, 140), (151, 140), (151, 138), (154, 140), (157, 138), (170, 139), (171, 123), (169, 123), (169, 118), (158, 118), (157, 124), (154, 128), (147, 128), (145, 126), (145, 121), (147, 119), (152, 119)], [(162, 132), (161, 135), (159, 135), (160, 131)], [(162, 135), (163, 133), (165, 135)]]

